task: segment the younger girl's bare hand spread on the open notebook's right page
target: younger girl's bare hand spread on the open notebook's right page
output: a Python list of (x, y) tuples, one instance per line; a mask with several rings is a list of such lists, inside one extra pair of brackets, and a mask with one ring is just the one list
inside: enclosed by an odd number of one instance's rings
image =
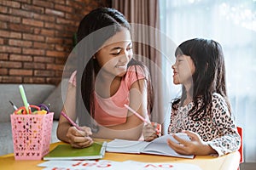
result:
[(173, 138), (177, 140), (178, 144), (171, 139), (167, 139), (167, 144), (178, 154), (206, 156), (217, 153), (211, 146), (201, 139), (198, 133), (191, 131), (183, 131), (183, 133), (187, 133), (191, 141), (180, 139), (175, 134), (173, 134)]

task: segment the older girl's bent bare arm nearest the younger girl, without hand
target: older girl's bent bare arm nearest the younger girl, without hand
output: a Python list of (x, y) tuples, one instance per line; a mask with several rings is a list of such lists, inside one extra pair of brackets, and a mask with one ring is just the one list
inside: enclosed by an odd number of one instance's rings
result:
[[(148, 118), (147, 96), (147, 83), (145, 79), (137, 80), (131, 85), (129, 106), (146, 119)], [(142, 135), (143, 124), (143, 121), (131, 113), (131, 111), (128, 111), (125, 123), (109, 127), (99, 126), (99, 131), (93, 133), (93, 137), (102, 139), (119, 138), (137, 140)]]

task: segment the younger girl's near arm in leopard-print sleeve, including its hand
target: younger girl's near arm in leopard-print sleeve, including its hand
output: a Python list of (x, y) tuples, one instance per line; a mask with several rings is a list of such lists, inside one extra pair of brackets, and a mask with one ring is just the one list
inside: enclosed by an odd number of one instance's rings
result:
[(236, 125), (230, 116), (230, 112), (224, 98), (219, 94), (213, 94), (211, 122), (215, 123), (212, 127), (214, 129), (208, 129), (208, 131), (218, 132), (214, 139), (205, 142), (201, 139), (198, 133), (184, 131), (184, 133), (189, 135), (191, 141), (184, 141), (174, 135), (173, 138), (177, 139), (179, 144), (168, 140), (169, 146), (172, 147), (173, 150), (177, 151), (177, 153), (184, 155), (223, 156), (238, 150), (241, 143), (240, 136), (237, 133)]

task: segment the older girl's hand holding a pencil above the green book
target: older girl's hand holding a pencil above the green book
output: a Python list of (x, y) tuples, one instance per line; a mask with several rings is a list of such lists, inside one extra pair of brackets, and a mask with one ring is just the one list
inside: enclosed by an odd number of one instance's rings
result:
[(85, 148), (93, 144), (90, 127), (81, 127), (83, 131), (76, 127), (69, 127), (67, 130), (67, 138), (74, 148)]

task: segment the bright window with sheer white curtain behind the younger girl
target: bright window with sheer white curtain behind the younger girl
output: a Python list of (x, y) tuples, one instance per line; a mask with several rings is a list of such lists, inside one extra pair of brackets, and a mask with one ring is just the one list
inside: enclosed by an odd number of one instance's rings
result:
[[(244, 129), (247, 162), (256, 161), (255, 9), (255, 0), (160, 0), (161, 31), (175, 44), (203, 37), (222, 45), (232, 114), (236, 124)], [(162, 44), (163, 48), (168, 48), (168, 43)], [(168, 55), (174, 62), (174, 54)], [(163, 63), (166, 64), (163, 66), (166, 77), (170, 77), (172, 84), (173, 63)], [(177, 97), (176, 90), (171, 92), (172, 98)]]

